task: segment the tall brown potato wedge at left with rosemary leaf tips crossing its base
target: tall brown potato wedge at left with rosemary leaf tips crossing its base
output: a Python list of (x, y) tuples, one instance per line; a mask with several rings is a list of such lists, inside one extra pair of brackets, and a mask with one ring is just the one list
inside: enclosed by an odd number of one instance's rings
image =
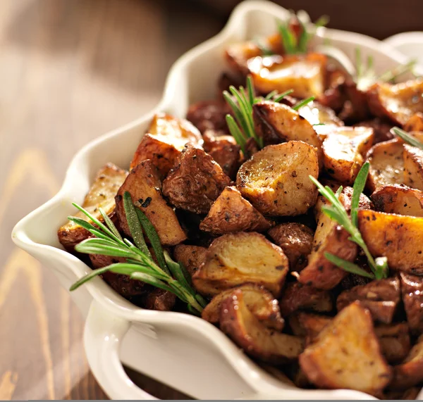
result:
[(133, 168), (115, 198), (116, 213), (121, 230), (127, 236), (130, 236), (125, 208), (123, 207), (123, 194), (125, 194), (125, 191), (129, 191), (133, 203), (139, 201), (141, 206), (137, 208), (140, 208), (152, 222), (157, 234), (159, 234), (161, 244), (164, 246), (175, 246), (187, 238), (182, 227), (180, 227), (175, 212), (161, 196), (159, 173), (152, 161), (147, 159)]

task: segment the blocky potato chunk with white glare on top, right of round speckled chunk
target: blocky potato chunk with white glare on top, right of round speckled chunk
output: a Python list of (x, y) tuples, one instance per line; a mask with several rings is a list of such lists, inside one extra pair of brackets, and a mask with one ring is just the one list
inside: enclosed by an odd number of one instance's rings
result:
[(371, 128), (336, 127), (323, 142), (326, 172), (339, 182), (353, 184), (372, 142)]

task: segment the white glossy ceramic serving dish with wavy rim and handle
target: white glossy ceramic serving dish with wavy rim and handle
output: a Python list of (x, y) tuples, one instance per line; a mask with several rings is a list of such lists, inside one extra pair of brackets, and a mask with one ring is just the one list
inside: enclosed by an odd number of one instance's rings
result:
[[(152, 115), (166, 111), (184, 116), (188, 104), (213, 96), (225, 69), (224, 46), (270, 34), (276, 18), (288, 12), (268, 1), (240, 4), (221, 33), (182, 56), (171, 68), (163, 99), (147, 115), (87, 144), (73, 158), (63, 187), (13, 229), (13, 241), (40, 260), (68, 289), (90, 268), (63, 250), (56, 236), (71, 202), (81, 203), (95, 172), (106, 162), (127, 168)], [(378, 72), (404, 63), (405, 56), (361, 34), (326, 30), (334, 46), (353, 58), (372, 54)], [(317, 38), (318, 42), (323, 39)], [(106, 394), (116, 399), (151, 399), (125, 375), (126, 365), (195, 398), (206, 399), (369, 399), (350, 390), (303, 390), (274, 379), (247, 358), (216, 327), (200, 318), (142, 310), (125, 301), (98, 277), (71, 293), (86, 317), (84, 342), (88, 362)]]

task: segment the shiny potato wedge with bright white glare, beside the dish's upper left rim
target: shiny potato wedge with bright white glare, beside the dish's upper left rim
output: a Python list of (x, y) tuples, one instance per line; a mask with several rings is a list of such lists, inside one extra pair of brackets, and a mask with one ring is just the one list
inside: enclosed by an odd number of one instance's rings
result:
[(154, 116), (147, 134), (142, 137), (130, 163), (130, 169), (145, 159), (150, 159), (161, 177), (166, 177), (188, 142), (202, 146), (203, 140), (197, 127), (188, 120), (159, 113)]

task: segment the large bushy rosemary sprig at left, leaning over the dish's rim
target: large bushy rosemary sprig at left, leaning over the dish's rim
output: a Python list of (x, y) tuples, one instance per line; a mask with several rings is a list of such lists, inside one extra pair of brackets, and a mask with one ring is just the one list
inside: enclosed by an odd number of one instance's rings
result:
[[(73, 203), (89, 218), (97, 227), (90, 222), (74, 216), (68, 219), (81, 225), (94, 238), (85, 239), (75, 246), (75, 250), (80, 253), (101, 254), (102, 256), (123, 257), (125, 263), (115, 263), (104, 268), (92, 270), (90, 274), (85, 275), (71, 286), (71, 291), (78, 289), (82, 284), (88, 282), (97, 275), (111, 271), (121, 275), (127, 275), (130, 279), (137, 279), (147, 284), (151, 284), (159, 289), (164, 289), (175, 294), (180, 300), (188, 304), (190, 312), (199, 315), (207, 302), (197, 294), (192, 288), (190, 277), (182, 264), (176, 263), (166, 251), (163, 251), (159, 235), (147, 216), (133, 205), (130, 194), (125, 191), (123, 196), (123, 206), (125, 208), (126, 220), (130, 229), (130, 234), (134, 239), (135, 245), (128, 239), (123, 239), (116, 226), (109, 218), (104, 218), (106, 214), (102, 213), (105, 225), (94, 218), (88, 211), (81, 206)], [(145, 243), (142, 229), (149, 239), (157, 263), (154, 262), (147, 244)]]

